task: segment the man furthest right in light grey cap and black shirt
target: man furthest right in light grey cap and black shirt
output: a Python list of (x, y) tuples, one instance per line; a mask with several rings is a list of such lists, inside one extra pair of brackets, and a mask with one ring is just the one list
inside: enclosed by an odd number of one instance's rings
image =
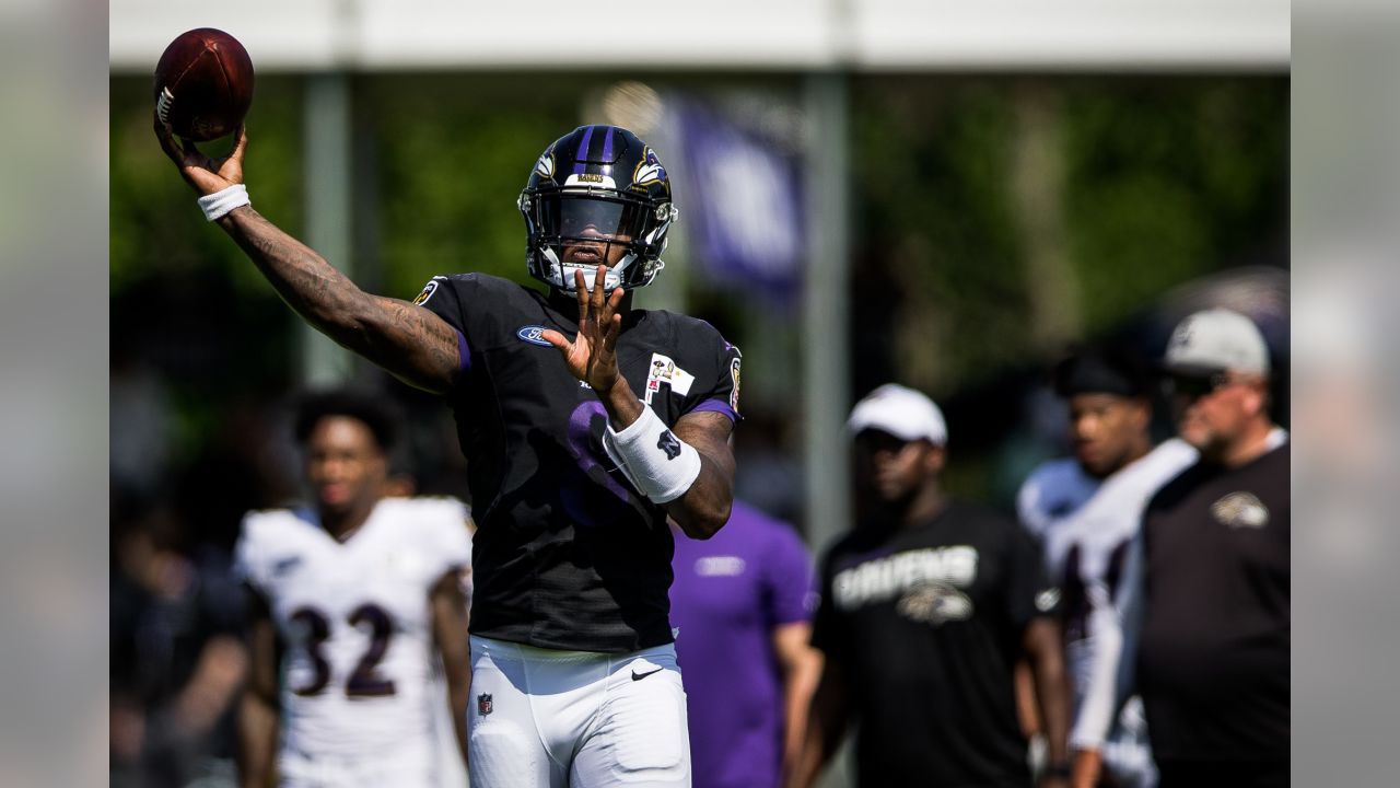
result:
[(1205, 310), (1163, 366), (1200, 461), (1152, 498), (1124, 580), (1161, 787), (1288, 785), (1289, 449), (1268, 348), (1247, 317)]

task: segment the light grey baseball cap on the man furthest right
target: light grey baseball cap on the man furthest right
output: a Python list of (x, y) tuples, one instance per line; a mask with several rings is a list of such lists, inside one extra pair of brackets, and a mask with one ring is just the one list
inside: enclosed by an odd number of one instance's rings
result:
[(1166, 344), (1168, 372), (1268, 374), (1268, 345), (1254, 321), (1226, 308), (1193, 313)]

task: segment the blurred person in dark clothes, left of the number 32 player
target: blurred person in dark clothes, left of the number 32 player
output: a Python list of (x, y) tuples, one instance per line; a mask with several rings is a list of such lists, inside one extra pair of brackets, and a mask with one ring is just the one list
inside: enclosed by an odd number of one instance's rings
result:
[(218, 554), (175, 550), (168, 509), (113, 517), (112, 784), (181, 787), (230, 774), (246, 670), (241, 596)]

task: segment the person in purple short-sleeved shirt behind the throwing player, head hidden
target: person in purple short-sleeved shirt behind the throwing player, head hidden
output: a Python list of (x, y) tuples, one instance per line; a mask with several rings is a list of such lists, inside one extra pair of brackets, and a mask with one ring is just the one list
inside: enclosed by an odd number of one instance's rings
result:
[(694, 788), (781, 785), (820, 674), (806, 547), (788, 523), (735, 501), (713, 538), (676, 537), (672, 568)]

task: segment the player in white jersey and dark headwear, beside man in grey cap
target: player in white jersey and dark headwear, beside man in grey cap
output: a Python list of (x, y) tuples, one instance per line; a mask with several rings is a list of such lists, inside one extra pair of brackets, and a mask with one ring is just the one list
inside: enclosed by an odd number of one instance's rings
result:
[(1112, 589), (1147, 501), (1196, 460), (1196, 450), (1177, 439), (1152, 447), (1148, 376), (1124, 353), (1067, 359), (1056, 369), (1056, 391), (1070, 402), (1075, 456), (1037, 467), (1016, 503), (1063, 595), (1072, 785), (1145, 788), (1155, 771), (1141, 702), (1119, 693), (1123, 625)]

